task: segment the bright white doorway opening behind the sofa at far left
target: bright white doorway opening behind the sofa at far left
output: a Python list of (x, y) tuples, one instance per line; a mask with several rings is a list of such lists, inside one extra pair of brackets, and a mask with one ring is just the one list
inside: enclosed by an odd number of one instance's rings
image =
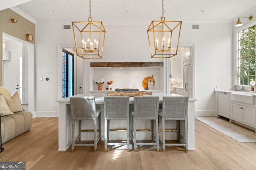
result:
[(6, 43), (4, 50), (10, 53), (8, 59), (3, 56), (3, 86), (11, 96), (18, 91), (22, 107), (35, 117), (34, 44), (6, 33), (2, 33), (2, 39)]

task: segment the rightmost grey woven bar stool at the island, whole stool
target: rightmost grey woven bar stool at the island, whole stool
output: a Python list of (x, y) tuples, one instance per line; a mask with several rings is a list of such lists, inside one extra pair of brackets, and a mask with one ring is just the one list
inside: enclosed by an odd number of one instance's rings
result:
[[(185, 151), (188, 152), (188, 97), (186, 96), (164, 96), (162, 108), (159, 109), (159, 115), (162, 118), (162, 142), (163, 152), (165, 146), (185, 146)], [(176, 120), (177, 129), (174, 132), (178, 133), (178, 141), (180, 143), (166, 143), (165, 141), (165, 121)], [(184, 121), (185, 134), (180, 135), (180, 121)]]

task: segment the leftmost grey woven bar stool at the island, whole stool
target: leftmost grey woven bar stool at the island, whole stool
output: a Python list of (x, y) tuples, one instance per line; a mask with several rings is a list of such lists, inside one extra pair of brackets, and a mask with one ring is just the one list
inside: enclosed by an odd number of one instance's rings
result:
[[(71, 152), (74, 152), (74, 146), (94, 146), (94, 152), (97, 150), (98, 141), (101, 139), (101, 123), (100, 123), (100, 108), (96, 108), (95, 97), (70, 97), (70, 107), (72, 115), (72, 136), (71, 136)], [(75, 139), (75, 121), (79, 121), (79, 134)], [(93, 120), (94, 121), (94, 141), (93, 143), (82, 143), (81, 131), (86, 132), (87, 130), (81, 130), (82, 120)], [(97, 120), (99, 121), (99, 134), (97, 135)], [(88, 130), (90, 131), (90, 130)], [(76, 143), (77, 141), (81, 141)]]

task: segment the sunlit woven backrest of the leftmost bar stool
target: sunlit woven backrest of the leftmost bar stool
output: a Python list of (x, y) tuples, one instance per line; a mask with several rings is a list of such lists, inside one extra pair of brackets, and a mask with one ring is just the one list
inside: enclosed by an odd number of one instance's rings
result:
[(71, 115), (74, 120), (96, 117), (96, 104), (94, 96), (70, 97)]

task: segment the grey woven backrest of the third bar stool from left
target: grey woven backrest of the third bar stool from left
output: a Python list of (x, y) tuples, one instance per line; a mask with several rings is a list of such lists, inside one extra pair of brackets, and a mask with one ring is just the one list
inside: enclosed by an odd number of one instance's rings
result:
[(138, 119), (156, 119), (158, 117), (159, 97), (158, 96), (135, 96), (134, 113)]

